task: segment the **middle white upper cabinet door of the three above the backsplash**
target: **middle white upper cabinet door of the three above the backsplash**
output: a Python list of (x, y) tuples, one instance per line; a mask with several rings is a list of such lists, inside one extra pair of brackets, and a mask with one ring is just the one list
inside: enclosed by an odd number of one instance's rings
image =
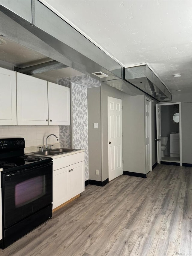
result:
[(21, 73), (16, 76), (17, 124), (48, 125), (47, 81)]

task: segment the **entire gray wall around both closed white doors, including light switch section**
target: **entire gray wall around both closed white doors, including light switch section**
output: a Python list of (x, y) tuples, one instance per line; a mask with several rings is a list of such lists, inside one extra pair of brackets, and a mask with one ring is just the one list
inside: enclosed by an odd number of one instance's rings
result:
[[(123, 170), (146, 173), (144, 95), (131, 96), (111, 86), (88, 88), (89, 179), (108, 178), (107, 97), (122, 99)], [(101, 98), (100, 98), (101, 97)], [(98, 123), (99, 129), (93, 124)], [(152, 164), (157, 162), (156, 101), (152, 101)], [(99, 175), (95, 170), (99, 170)]]

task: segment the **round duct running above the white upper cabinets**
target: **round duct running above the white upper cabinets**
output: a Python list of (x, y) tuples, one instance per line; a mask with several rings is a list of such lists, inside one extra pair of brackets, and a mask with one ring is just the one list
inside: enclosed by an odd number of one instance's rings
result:
[(38, 65), (26, 67), (26, 68), (15, 68), (15, 71), (26, 74), (26, 75), (35, 75), (35, 74), (44, 73), (47, 71), (52, 71), (52, 70), (61, 69), (61, 68), (67, 68), (67, 66), (64, 65), (63, 63), (53, 60), (53, 61), (44, 62)]

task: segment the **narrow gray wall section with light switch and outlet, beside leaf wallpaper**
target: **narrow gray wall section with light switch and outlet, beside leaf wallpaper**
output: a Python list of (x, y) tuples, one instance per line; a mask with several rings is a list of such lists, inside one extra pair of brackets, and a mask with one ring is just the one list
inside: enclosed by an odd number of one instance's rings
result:
[[(89, 179), (101, 181), (101, 87), (87, 89), (87, 104)], [(93, 128), (94, 123), (98, 123), (98, 129)]]

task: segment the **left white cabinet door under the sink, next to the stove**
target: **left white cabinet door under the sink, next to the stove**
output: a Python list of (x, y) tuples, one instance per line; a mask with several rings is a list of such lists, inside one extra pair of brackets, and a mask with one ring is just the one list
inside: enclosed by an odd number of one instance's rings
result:
[(69, 167), (53, 171), (53, 209), (70, 199)]

